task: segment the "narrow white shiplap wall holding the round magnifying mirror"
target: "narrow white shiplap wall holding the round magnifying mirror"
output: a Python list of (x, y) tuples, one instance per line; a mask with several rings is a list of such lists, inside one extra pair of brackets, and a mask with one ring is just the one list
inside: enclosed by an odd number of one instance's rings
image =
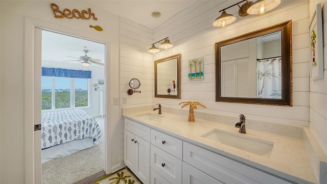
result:
[[(151, 47), (152, 30), (120, 17), (120, 105), (134, 107), (152, 105), (154, 86), (154, 63)], [(141, 93), (128, 95), (128, 83), (137, 78), (141, 86), (135, 90)], [(123, 103), (123, 98), (127, 103)], [(120, 112), (121, 113), (121, 112)], [(121, 160), (124, 162), (124, 119), (121, 119)]]

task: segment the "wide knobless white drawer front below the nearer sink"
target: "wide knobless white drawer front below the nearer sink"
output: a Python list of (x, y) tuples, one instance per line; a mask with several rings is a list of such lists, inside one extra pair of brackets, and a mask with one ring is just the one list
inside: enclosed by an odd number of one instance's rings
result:
[(289, 183), (187, 142), (183, 142), (183, 161), (224, 183)]

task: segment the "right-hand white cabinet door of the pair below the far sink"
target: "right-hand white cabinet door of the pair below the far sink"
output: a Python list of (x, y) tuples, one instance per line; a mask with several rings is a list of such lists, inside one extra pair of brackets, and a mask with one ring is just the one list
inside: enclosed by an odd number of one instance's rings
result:
[(135, 175), (150, 183), (150, 143), (135, 135)]

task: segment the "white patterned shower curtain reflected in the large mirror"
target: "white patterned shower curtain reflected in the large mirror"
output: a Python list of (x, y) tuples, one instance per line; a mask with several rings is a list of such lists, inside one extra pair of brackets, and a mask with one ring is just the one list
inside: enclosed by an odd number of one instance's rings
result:
[(256, 73), (257, 98), (282, 99), (282, 58), (258, 59)]

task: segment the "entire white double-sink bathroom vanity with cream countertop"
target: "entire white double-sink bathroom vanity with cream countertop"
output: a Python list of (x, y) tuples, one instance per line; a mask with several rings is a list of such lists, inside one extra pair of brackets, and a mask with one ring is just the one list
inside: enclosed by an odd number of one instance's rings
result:
[(144, 183), (319, 183), (302, 139), (152, 110), (123, 117), (124, 162)]

